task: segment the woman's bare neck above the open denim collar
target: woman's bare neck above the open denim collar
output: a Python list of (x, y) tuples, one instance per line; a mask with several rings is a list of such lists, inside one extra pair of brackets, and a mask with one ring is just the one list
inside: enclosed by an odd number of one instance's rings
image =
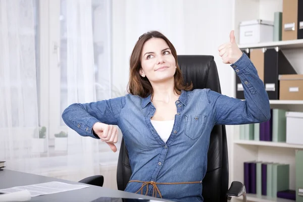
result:
[(152, 83), (151, 85), (154, 90), (153, 101), (170, 103), (172, 100), (175, 102), (179, 98), (179, 95), (175, 91), (174, 79), (161, 83)]

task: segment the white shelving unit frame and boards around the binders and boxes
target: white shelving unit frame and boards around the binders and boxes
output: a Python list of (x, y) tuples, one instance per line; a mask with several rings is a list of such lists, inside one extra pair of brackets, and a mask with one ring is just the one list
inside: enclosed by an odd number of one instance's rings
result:
[[(285, 1), (285, 0), (284, 0)], [(234, 0), (233, 24), (235, 37), (239, 42), (239, 23), (246, 20), (274, 21), (274, 12), (283, 11), (283, 0)], [(303, 39), (288, 41), (273, 41), (258, 44), (239, 44), (239, 48), (251, 49), (262, 47), (281, 48), (298, 74), (303, 74)], [(288, 111), (303, 112), (303, 100), (270, 100), (271, 108), (286, 109)], [(299, 131), (298, 131), (299, 132)], [(290, 165), (289, 188), (295, 190), (295, 151), (303, 150), (303, 144), (288, 144), (285, 142), (269, 142), (255, 140), (240, 140), (239, 126), (233, 127), (232, 141), (229, 143), (230, 182), (244, 182), (245, 161), (277, 162)], [(242, 197), (233, 198), (232, 201), (242, 201)], [(283, 198), (257, 196), (247, 194), (247, 201), (259, 202), (290, 202)]]

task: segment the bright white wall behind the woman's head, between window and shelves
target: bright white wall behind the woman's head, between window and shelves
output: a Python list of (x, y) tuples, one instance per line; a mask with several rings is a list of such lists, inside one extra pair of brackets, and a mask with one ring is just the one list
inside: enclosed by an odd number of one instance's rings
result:
[[(234, 71), (218, 55), (219, 45), (229, 41), (233, 28), (233, 4), (233, 0), (113, 0), (113, 84), (125, 87), (136, 40), (156, 29), (171, 40), (178, 55), (213, 55), (222, 93), (234, 96)], [(227, 126), (228, 137), (232, 132), (233, 127)]]

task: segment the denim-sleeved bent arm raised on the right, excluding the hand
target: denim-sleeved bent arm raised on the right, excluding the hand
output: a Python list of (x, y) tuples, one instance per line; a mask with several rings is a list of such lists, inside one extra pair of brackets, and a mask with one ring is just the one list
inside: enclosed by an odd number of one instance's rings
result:
[(231, 66), (242, 81), (245, 100), (209, 91), (214, 123), (238, 125), (269, 120), (271, 115), (268, 94), (254, 64), (243, 54)]

